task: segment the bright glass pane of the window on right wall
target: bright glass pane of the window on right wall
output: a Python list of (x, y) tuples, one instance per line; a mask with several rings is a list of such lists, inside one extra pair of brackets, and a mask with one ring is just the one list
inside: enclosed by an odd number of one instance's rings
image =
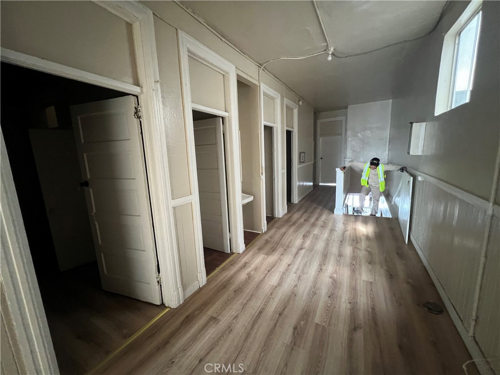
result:
[(468, 101), (468, 91), (472, 85), (471, 77), (475, 59), (479, 16), (480, 13), (472, 18), (458, 35), (452, 108)]

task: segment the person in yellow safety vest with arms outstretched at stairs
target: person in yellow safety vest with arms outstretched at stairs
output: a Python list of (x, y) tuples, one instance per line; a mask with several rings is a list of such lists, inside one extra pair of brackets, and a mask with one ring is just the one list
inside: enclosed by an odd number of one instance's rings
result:
[(405, 166), (395, 164), (382, 164), (378, 157), (373, 157), (369, 162), (361, 162), (350, 160), (345, 166), (341, 166), (340, 170), (345, 170), (347, 166), (352, 166), (355, 169), (361, 170), (361, 192), (359, 193), (359, 204), (352, 211), (358, 215), (363, 213), (364, 199), (371, 191), (373, 207), (371, 208), (370, 216), (375, 216), (378, 212), (378, 200), (380, 192), (385, 190), (385, 174), (386, 170), (406, 170)]

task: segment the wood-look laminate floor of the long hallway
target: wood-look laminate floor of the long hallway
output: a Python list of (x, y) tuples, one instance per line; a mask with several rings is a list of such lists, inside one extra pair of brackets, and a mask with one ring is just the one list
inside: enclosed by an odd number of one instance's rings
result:
[(448, 313), (422, 307), (442, 301), (397, 220), (333, 204), (334, 187), (315, 188), (98, 371), (463, 373), (470, 356)]

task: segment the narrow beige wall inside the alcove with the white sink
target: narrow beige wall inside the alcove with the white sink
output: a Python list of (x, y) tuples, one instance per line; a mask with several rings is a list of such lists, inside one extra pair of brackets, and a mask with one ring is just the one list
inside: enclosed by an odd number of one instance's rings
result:
[(260, 196), (260, 120), (258, 88), (238, 80), (238, 123), (241, 144), (241, 192), (253, 195), (243, 205), (243, 228), (262, 230)]

